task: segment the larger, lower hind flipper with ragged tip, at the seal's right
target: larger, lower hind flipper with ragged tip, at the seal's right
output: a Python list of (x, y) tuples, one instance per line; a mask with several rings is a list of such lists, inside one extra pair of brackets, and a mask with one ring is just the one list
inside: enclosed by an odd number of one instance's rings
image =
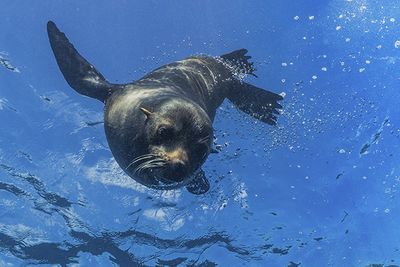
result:
[(248, 83), (235, 81), (226, 96), (238, 109), (254, 118), (275, 125), (279, 109), (278, 101), (281, 95), (258, 88)]

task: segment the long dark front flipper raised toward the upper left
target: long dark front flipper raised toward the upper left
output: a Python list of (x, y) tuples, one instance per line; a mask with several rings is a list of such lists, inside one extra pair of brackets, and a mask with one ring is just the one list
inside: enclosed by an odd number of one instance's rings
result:
[(50, 45), (65, 80), (78, 93), (104, 102), (116, 86), (84, 59), (54, 22), (47, 23)]

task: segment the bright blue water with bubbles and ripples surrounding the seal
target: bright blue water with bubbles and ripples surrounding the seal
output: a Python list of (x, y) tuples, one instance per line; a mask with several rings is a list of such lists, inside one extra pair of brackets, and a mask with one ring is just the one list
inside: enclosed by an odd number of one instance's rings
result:
[[(0, 266), (400, 266), (398, 1), (3, 0), (0, 17)], [(278, 125), (225, 102), (207, 194), (140, 186), (48, 20), (111, 82), (247, 48), (247, 81), (286, 94)]]

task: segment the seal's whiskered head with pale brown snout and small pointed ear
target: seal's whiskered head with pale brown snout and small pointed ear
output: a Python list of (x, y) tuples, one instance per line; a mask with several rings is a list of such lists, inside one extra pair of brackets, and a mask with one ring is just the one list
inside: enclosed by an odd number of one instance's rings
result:
[(180, 99), (170, 99), (154, 112), (141, 110), (146, 116), (145, 135), (152, 156), (144, 167), (148, 165), (150, 175), (165, 183), (184, 182), (210, 152), (210, 119), (201, 108)]

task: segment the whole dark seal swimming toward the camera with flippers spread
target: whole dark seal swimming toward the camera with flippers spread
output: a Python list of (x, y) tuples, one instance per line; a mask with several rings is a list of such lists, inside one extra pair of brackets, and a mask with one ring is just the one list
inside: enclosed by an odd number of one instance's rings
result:
[(220, 57), (191, 56), (127, 84), (113, 84), (85, 58), (54, 22), (47, 23), (51, 48), (67, 83), (105, 104), (104, 128), (119, 166), (155, 189), (210, 188), (201, 169), (212, 152), (212, 123), (225, 99), (250, 116), (275, 125), (282, 96), (243, 82), (254, 75), (246, 49)]

